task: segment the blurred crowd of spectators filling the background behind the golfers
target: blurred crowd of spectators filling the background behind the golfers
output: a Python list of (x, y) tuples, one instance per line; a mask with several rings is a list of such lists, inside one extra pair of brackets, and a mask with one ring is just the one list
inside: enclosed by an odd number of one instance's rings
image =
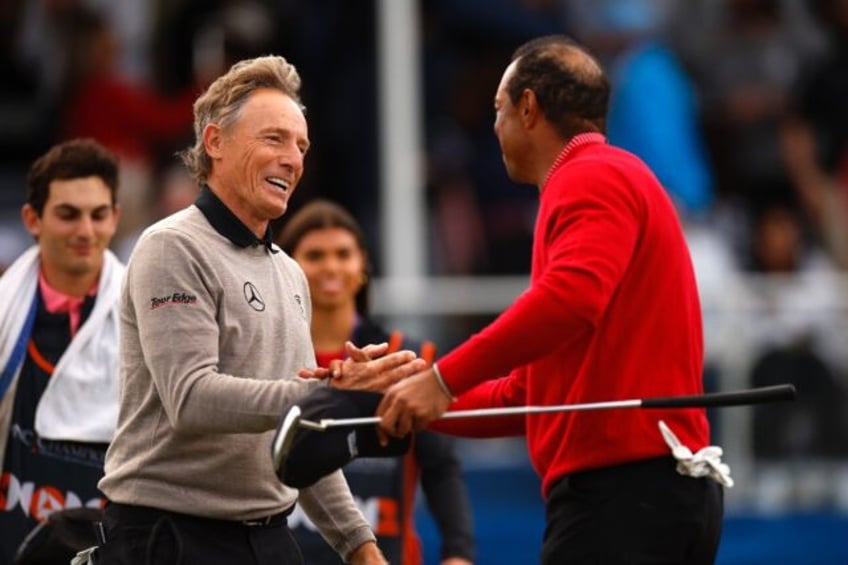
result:
[[(667, 188), (703, 284), (740, 273), (774, 283), (747, 297), (751, 383), (796, 382), (810, 401), (757, 420), (758, 454), (848, 455), (846, 314), (809, 307), (845, 295), (844, 277), (818, 275), (848, 271), (848, 0), (418, 4), (429, 272), (527, 273), (537, 198), (503, 173), (492, 96), (518, 44), (572, 35), (613, 81), (610, 141)], [(312, 149), (293, 210), (332, 199), (377, 248), (376, 10), (374, 0), (2, 3), (0, 264), (28, 244), (18, 210), (29, 163), (71, 137), (121, 159), (115, 245), (126, 259), (141, 229), (195, 197), (174, 157), (192, 139), (195, 95), (234, 61), (271, 52), (304, 81)]]

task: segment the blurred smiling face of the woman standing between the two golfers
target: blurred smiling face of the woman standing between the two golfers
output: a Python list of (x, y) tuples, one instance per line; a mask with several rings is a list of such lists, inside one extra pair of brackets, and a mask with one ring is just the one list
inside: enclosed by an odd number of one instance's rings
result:
[(344, 228), (307, 232), (292, 255), (309, 281), (315, 310), (355, 307), (364, 282), (365, 253)]

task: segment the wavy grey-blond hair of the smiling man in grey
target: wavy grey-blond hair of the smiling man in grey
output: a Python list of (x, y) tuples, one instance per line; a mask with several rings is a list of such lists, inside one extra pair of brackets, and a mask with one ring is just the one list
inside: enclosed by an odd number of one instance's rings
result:
[(194, 145), (179, 157), (199, 184), (206, 183), (212, 170), (212, 159), (203, 145), (203, 130), (212, 123), (227, 129), (238, 118), (248, 97), (260, 88), (279, 90), (303, 108), (297, 69), (276, 55), (239, 61), (194, 102)]

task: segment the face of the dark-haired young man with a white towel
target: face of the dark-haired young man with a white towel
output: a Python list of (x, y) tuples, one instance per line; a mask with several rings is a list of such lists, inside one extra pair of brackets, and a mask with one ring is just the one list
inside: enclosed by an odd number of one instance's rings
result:
[(118, 225), (118, 208), (103, 179), (51, 181), (41, 216), (29, 204), (22, 215), (38, 240), (48, 283), (62, 290), (64, 281), (99, 275), (103, 252)]

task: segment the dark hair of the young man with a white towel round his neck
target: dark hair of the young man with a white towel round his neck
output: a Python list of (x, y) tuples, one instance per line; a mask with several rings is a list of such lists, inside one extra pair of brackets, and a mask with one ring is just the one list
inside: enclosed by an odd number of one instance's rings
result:
[(118, 159), (93, 139), (72, 139), (54, 145), (32, 164), (27, 174), (26, 203), (41, 216), (50, 196), (50, 183), (100, 177), (112, 193), (112, 206), (118, 195)]

